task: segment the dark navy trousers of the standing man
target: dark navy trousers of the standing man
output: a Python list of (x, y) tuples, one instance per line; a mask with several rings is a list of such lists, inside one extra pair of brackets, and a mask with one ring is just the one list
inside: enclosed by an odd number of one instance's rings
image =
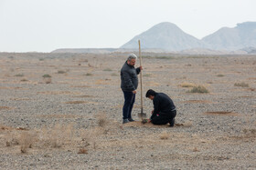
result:
[(123, 119), (132, 118), (133, 104), (135, 102), (135, 94), (133, 92), (123, 91), (124, 105), (123, 105)]

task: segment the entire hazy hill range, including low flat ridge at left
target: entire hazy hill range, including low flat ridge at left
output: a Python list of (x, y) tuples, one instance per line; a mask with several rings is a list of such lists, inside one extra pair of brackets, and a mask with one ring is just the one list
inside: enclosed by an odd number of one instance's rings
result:
[(201, 40), (188, 35), (172, 23), (160, 23), (136, 35), (120, 48), (63, 48), (52, 53), (109, 54), (138, 51), (141, 40), (143, 52), (181, 53), (198, 55), (256, 54), (256, 22), (245, 22), (234, 28), (222, 27)]

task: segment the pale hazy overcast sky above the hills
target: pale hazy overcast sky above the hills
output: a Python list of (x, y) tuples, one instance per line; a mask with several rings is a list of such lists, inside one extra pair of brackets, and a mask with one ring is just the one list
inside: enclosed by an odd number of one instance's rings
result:
[(0, 0), (0, 52), (116, 48), (161, 22), (201, 39), (256, 21), (255, 6), (256, 0)]

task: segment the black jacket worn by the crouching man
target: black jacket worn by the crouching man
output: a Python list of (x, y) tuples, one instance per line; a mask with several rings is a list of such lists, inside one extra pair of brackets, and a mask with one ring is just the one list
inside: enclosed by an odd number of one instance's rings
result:
[(154, 113), (152, 117), (155, 115), (171, 115), (171, 112), (176, 110), (176, 106), (174, 105), (173, 100), (164, 93), (155, 93), (155, 97), (153, 99), (154, 104)]

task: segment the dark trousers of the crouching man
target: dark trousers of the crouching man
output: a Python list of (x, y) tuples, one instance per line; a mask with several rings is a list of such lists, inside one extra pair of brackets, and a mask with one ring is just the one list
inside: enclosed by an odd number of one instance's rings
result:
[(151, 117), (151, 122), (154, 125), (165, 125), (171, 123), (171, 121), (176, 117), (176, 110), (172, 111), (170, 114), (158, 114)]

